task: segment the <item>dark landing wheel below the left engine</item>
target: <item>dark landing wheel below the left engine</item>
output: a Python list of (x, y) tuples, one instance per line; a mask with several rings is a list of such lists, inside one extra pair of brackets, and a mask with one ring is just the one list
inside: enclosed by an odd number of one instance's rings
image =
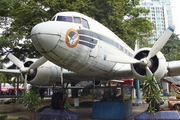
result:
[(52, 105), (52, 108), (55, 110), (64, 108), (63, 93), (62, 92), (57, 92), (57, 93), (54, 93), (52, 95), (51, 105)]

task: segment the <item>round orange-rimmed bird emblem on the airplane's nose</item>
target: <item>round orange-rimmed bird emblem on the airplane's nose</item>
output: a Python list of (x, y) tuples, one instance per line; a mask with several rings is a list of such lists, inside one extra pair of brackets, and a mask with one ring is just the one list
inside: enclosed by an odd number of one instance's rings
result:
[(79, 34), (76, 30), (74, 29), (69, 29), (66, 32), (66, 45), (70, 48), (74, 48), (77, 46), (79, 42)]

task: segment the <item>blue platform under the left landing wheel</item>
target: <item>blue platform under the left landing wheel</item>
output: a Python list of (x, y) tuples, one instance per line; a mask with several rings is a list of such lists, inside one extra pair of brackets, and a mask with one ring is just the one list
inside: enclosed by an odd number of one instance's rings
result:
[(70, 110), (44, 109), (40, 113), (40, 120), (79, 120), (79, 115)]

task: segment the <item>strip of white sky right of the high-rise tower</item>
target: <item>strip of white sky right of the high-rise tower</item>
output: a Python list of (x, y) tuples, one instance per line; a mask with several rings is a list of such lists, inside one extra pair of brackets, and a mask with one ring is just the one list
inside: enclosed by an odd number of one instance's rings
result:
[(176, 29), (175, 34), (179, 34), (180, 37), (180, 0), (171, 0), (173, 24)]

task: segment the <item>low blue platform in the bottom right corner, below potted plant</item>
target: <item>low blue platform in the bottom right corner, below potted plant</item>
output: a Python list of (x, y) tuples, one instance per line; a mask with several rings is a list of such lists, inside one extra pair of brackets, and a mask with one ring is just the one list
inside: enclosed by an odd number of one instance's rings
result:
[(160, 111), (155, 114), (143, 112), (136, 117), (134, 120), (180, 120), (178, 111)]

